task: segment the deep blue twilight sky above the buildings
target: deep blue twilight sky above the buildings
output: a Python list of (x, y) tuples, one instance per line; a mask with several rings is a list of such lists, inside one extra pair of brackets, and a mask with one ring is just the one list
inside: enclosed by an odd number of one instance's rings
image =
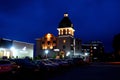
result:
[(75, 36), (83, 42), (100, 40), (112, 51), (120, 32), (120, 0), (0, 0), (0, 37), (34, 43), (57, 27), (69, 13)]

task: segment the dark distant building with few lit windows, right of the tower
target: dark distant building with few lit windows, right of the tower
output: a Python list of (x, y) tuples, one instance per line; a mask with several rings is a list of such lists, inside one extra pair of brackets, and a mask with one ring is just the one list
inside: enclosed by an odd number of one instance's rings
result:
[(90, 58), (92, 61), (101, 61), (103, 60), (104, 55), (103, 43), (101, 41), (91, 41), (82, 44), (82, 52), (90, 53)]

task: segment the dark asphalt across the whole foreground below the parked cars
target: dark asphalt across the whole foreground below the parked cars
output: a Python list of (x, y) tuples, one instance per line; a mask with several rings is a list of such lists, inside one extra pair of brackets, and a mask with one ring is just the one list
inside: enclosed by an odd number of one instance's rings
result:
[(7, 77), (6, 80), (120, 80), (120, 65), (92, 63), (56, 73), (21, 73)]

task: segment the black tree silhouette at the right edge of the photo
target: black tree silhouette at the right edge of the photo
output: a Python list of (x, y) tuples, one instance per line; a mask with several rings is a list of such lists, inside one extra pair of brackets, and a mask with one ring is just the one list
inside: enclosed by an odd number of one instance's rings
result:
[(120, 61), (120, 33), (114, 36), (112, 46), (114, 48), (115, 59)]

